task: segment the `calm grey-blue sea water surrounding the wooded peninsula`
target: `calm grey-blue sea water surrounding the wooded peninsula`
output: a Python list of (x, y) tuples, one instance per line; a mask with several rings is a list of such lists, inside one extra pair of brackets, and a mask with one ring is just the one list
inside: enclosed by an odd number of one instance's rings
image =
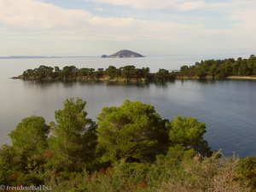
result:
[[(224, 57), (225, 58), (225, 57)], [(0, 144), (9, 143), (8, 134), (21, 119), (43, 116), (54, 120), (56, 109), (62, 108), (67, 98), (80, 97), (87, 101), (89, 117), (96, 116), (105, 106), (119, 106), (126, 99), (147, 102), (155, 106), (163, 118), (176, 115), (195, 117), (207, 125), (205, 139), (212, 149), (224, 154), (244, 157), (256, 154), (256, 81), (180, 81), (160, 84), (109, 84), (109, 83), (35, 83), (10, 79), (27, 68), (39, 65), (106, 68), (135, 65), (178, 69), (184, 64), (212, 59), (209, 56), (169, 56), (137, 59), (59, 58), (0, 60)], [(29, 137), (29, 136), (27, 136)]]

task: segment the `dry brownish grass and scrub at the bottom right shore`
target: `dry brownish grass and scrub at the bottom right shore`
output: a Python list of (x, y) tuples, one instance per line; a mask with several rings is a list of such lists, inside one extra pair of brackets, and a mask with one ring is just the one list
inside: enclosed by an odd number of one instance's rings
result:
[(236, 177), (238, 159), (202, 158), (183, 163), (182, 177), (171, 177), (162, 183), (158, 192), (249, 192), (247, 183)]

